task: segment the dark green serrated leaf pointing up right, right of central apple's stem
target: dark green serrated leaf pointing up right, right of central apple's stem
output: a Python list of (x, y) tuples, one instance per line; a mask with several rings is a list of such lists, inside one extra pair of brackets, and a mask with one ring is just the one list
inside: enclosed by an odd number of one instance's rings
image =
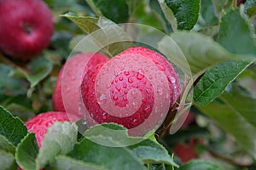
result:
[(224, 92), (224, 89), (244, 71), (250, 63), (227, 61), (207, 71), (194, 88), (197, 105), (207, 105)]

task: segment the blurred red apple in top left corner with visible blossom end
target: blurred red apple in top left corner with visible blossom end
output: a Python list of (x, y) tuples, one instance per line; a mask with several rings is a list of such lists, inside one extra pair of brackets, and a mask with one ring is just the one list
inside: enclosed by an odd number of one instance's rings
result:
[(41, 0), (0, 0), (0, 51), (22, 60), (32, 59), (49, 45), (54, 22)]

